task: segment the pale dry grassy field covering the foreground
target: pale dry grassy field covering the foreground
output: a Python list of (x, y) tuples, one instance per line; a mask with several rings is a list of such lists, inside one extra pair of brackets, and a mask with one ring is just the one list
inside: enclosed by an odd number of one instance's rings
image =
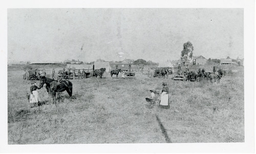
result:
[[(244, 142), (244, 73), (236, 69), (220, 84), (105, 73), (71, 80), (72, 99), (63, 92), (56, 105), (40, 89), (41, 102), (49, 104), (33, 108), (24, 70), (8, 69), (8, 144)], [(145, 98), (162, 82), (170, 89), (170, 109), (149, 108)]]

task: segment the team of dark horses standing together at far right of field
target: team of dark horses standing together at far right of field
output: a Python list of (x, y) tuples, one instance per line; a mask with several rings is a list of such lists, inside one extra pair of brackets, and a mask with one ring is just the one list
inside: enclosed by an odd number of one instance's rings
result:
[(210, 80), (211, 82), (217, 82), (220, 83), (220, 79), (222, 78), (224, 74), (224, 71), (222, 69), (219, 69), (216, 73), (214, 72), (206, 72), (205, 69), (199, 69), (196, 72), (190, 71), (190, 72), (185, 72), (185, 78), (187, 81), (196, 81), (197, 79), (199, 81), (201, 80)]

